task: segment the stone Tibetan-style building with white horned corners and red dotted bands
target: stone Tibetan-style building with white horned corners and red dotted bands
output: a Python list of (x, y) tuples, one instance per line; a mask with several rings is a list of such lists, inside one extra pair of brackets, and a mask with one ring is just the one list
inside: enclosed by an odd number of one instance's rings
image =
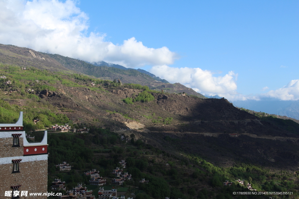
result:
[[(28, 191), (28, 196), (29, 193), (47, 192), (47, 147), (47, 131), (41, 142), (27, 141), (23, 112), (15, 124), (0, 124), (0, 198), (24, 198), (22, 191)], [(19, 195), (12, 197), (14, 191)], [(8, 197), (4, 197), (4, 193)]]

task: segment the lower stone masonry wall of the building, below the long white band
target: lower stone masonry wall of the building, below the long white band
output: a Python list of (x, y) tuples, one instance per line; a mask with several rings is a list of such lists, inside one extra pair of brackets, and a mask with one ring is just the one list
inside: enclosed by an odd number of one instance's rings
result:
[[(1, 143), (1, 141), (0, 141)], [(20, 147), (16, 147), (20, 148)], [(22, 147), (21, 147), (22, 148)], [(1, 149), (1, 146), (0, 146)], [(1, 152), (0, 152), (1, 153)], [(48, 183), (48, 160), (28, 161), (19, 163), (19, 173), (12, 173), (13, 163), (0, 164), (0, 199), (5, 197), (5, 191), (12, 191), (11, 186), (22, 185), (19, 191), (28, 191), (28, 196), (21, 199), (40, 199), (47, 196), (29, 196), (29, 193), (46, 193)]]

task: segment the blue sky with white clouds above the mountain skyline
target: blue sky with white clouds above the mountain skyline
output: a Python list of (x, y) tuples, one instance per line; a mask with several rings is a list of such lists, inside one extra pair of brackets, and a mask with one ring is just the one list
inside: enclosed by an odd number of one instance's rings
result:
[[(25, 39), (8, 39), (9, 36), (0, 36), (1, 43), (142, 68), (171, 83), (181, 82), (198, 92), (231, 100), (263, 96), (280, 100), (299, 98), (299, 87), (292, 81), (299, 79), (299, 1), (43, 0), (23, 1), (23, 5), (12, 10), (2, 2), (10, 17), (22, 13), (42, 31), (57, 31), (55, 38), (63, 34), (70, 38), (77, 31), (82, 40), (75, 42), (89, 45), (78, 44), (81, 50), (68, 54), (68, 48), (62, 47), (63, 38), (57, 38), (55, 41), (60, 43), (52, 47), (53, 42), (46, 47), (47, 43), (41, 45), (41, 41), (26, 43)], [(57, 12), (58, 7), (64, 9)], [(40, 8), (43, 13), (37, 11)], [(56, 19), (49, 21), (51, 15)], [(37, 21), (34, 16), (48, 21)], [(50, 28), (45, 28), (46, 22), (52, 24)], [(15, 33), (16, 28), (11, 31)], [(21, 28), (17, 31), (25, 37), (25, 31), (22, 33)], [(129, 40), (132, 37), (135, 40)], [(112, 50), (104, 56), (105, 49), (110, 47)], [(91, 57), (82, 49), (98, 50), (103, 56)], [(138, 51), (143, 54), (136, 55)], [(284, 87), (290, 81), (293, 83)]]

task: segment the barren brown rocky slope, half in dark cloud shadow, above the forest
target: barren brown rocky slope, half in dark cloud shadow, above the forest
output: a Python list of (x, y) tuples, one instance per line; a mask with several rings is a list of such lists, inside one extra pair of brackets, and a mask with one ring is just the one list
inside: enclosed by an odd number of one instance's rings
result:
[[(225, 99), (153, 93), (155, 100), (151, 102), (128, 105), (122, 101), (139, 92), (128, 88), (95, 92), (60, 86), (55, 95), (39, 95), (64, 109), (75, 123), (110, 128), (126, 135), (135, 133), (137, 138), (166, 151), (194, 153), (219, 166), (242, 161), (271, 168), (298, 168), (298, 135), (261, 121)], [(173, 119), (168, 125), (153, 123), (158, 117), (161, 121)], [(122, 130), (126, 128), (132, 130)], [(167, 136), (170, 140), (165, 140)]]

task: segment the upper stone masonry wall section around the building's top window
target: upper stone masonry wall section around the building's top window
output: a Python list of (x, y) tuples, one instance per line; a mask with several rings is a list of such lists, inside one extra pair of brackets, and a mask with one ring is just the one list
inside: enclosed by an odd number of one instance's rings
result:
[(13, 137), (0, 138), (0, 158), (23, 156), (23, 138), (19, 138), (20, 147), (13, 146)]

